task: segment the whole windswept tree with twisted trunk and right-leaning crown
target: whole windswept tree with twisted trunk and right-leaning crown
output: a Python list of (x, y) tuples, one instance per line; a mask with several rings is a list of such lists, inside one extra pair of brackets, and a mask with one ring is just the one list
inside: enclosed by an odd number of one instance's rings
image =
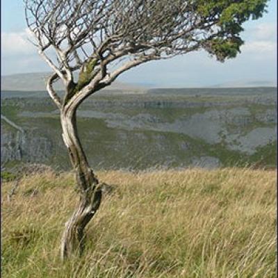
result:
[[(25, 0), (33, 43), (53, 74), (47, 91), (60, 111), (63, 141), (79, 188), (65, 225), (61, 254), (82, 252), (83, 230), (101, 203), (101, 183), (88, 165), (76, 110), (126, 70), (151, 60), (204, 49), (223, 62), (240, 52), (243, 23), (258, 19), (267, 0)], [(74, 72), (79, 73), (74, 80)], [(63, 82), (61, 98), (54, 83)]]

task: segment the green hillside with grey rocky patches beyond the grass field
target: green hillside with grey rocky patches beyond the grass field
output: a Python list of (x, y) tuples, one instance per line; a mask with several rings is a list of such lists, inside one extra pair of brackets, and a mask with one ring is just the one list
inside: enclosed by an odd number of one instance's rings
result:
[[(96, 169), (275, 167), (276, 94), (276, 88), (101, 92), (79, 109), (79, 133)], [(47, 92), (7, 91), (1, 97), (1, 113), (13, 122), (1, 120), (2, 166), (69, 169), (58, 111)]]

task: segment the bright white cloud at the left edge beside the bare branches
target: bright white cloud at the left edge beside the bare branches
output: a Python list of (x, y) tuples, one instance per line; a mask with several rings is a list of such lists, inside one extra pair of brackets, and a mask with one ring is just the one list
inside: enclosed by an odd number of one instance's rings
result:
[(28, 32), (1, 33), (1, 51), (3, 56), (35, 54), (35, 47), (28, 41)]

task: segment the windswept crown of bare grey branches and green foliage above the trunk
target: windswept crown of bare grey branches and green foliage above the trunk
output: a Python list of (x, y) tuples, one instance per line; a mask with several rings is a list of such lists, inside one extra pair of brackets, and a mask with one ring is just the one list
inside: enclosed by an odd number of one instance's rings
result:
[[(85, 99), (125, 69), (148, 60), (201, 48), (220, 61), (235, 56), (243, 44), (240, 24), (250, 15), (260, 17), (258, 10), (266, 0), (252, 0), (257, 3), (252, 4), (253, 10), (246, 8), (246, 1), (211, 0), (208, 5), (184, 0), (25, 0), (25, 17), (40, 55), (65, 84), (65, 107), (71, 98)], [(236, 6), (237, 12), (232, 13)], [(227, 18), (231, 15), (228, 22), (223, 13)], [(223, 43), (224, 48), (218, 47)], [(56, 53), (56, 64), (46, 50)], [(108, 71), (126, 57), (132, 62)], [(72, 69), (76, 68), (81, 73), (74, 83)]]

